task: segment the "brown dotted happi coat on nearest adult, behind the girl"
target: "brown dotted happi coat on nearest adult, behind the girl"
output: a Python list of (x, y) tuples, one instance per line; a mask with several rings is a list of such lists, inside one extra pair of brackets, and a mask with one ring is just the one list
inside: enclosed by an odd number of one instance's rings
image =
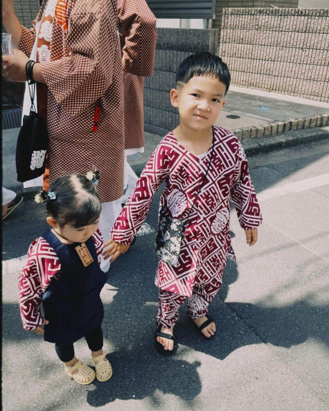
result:
[[(116, 0), (58, 0), (51, 24), (44, 13), (40, 28), (42, 35), (51, 37), (50, 51), (43, 51), (50, 53), (50, 61), (37, 56), (48, 88), (50, 181), (95, 167), (102, 202), (123, 194), (123, 69), (117, 12)], [(30, 56), (34, 42), (34, 30), (23, 27), (19, 48)], [(38, 109), (39, 103), (43, 102)], [(100, 114), (93, 131), (96, 106)]]

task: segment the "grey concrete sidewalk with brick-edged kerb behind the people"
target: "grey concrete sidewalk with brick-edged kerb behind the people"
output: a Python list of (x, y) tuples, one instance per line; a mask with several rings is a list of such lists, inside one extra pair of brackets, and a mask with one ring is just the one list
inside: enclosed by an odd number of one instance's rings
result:
[[(276, 98), (270, 98), (269, 96), (273, 93), (234, 88), (233, 86), (232, 90), (239, 90), (239, 92), (228, 91), (225, 97), (226, 104), (218, 118), (217, 124), (230, 131), (237, 129), (236, 135), (242, 140), (247, 154), (329, 138), (329, 131), (325, 128), (329, 122), (328, 116), (326, 117), (326, 114), (329, 113), (329, 104), (284, 95), (275, 95)], [(227, 118), (228, 115), (235, 115), (239, 118)], [(271, 128), (270, 124), (273, 124), (273, 122), (280, 123), (280, 127), (276, 129), (277, 132), (280, 129), (284, 129), (286, 123), (290, 129), (294, 130), (294, 125), (292, 124), (294, 119), (313, 119), (313, 124), (310, 121), (306, 121), (303, 122), (303, 127), (305, 128), (297, 129), (298, 124), (296, 122), (295, 131), (279, 133), (273, 136), (275, 131), (273, 128), (275, 129), (275, 127)], [(318, 127), (320, 125), (324, 127)], [(252, 132), (255, 133), (257, 127), (260, 130), (263, 129), (262, 137), (259, 138), (258, 135), (258, 138), (251, 138)], [(15, 152), (18, 133), (19, 128), (2, 131), (2, 184), (6, 188), (14, 190), (22, 189), (23, 187), (22, 183), (16, 181)], [(267, 135), (263, 136), (264, 133)], [(141, 172), (162, 137), (145, 133), (144, 153), (128, 157), (128, 161), (135, 173), (139, 174)], [(32, 189), (32, 191), (35, 192), (35, 189)]]

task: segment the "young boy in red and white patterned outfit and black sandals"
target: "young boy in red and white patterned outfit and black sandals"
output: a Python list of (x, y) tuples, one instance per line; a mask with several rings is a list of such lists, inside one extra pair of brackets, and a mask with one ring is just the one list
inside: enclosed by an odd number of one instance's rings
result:
[(127, 251), (153, 195), (165, 181), (160, 210), (175, 219), (188, 217), (188, 221), (178, 265), (160, 258), (155, 277), (159, 288), (155, 344), (164, 353), (174, 348), (173, 328), (184, 300), (199, 331), (206, 338), (215, 333), (208, 305), (222, 284), (227, 257), (235, 259), (229, 234), (230, 195), (247, 244), (257, 241), (256, 227), (262, 221), (239, 140), (213, 126), (225, 104), (229, 82), (227, 65), (211, 53), (192, 54), (181, 62), (176, 88), (170, 91), (180, 123), (155, 148), (104, 245), (103, 255), (112, 256), (111, 261)]

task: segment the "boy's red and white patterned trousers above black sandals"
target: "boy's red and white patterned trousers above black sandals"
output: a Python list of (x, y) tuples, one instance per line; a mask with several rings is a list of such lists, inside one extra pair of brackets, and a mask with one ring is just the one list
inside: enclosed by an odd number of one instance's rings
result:
[[(195, 279), (197, 281), (197, 279)], [(159, 289), (159, 303), (157, 321), (162, 326), (173, 328), (178, 320), (178, 308), (186, 300), (188, 316), (199, 318), (207, 314), (211, 303), (222, 283), (213, 278), (206, 284), (194, 284), (192, 297), (181, 296)]]

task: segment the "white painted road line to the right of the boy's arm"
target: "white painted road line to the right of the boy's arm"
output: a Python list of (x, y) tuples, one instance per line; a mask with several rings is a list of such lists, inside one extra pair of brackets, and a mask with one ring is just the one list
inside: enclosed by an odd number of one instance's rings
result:
[(287, 196), (288, 194), (300, 193), (312, 188), (321, 187), (329, 184), (329, 173), (317, 175), (316, 177), (305, 178), (295, 182), (282, 185), (281, 187), (264, 190), (257, 194), (259, 201), (268, 201), (277, 197)]

